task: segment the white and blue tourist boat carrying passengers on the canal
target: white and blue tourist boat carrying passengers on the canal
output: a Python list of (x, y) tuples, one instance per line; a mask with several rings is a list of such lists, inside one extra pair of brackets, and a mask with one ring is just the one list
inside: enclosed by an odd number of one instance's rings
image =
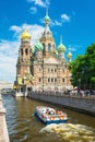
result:
[(58, 111), (54, 108), (46, 106), (37, 106), (35, 109), (35, 116), (46, 125), (61, 123), (68, 121), (68, 116), (66, 113)]

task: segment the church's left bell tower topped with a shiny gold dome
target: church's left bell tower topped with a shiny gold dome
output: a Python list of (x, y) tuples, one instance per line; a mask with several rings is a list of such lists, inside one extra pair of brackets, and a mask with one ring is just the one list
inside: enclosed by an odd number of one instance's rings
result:
[(21, 84), (24, 83), (26, 73), (31, 73), (31, 35), (26, 29), (24, 29), (21, 35), (21, 46), (19, 49), (19, 58), (16, 63), (16, 80), (17, 82), (21, 81)]

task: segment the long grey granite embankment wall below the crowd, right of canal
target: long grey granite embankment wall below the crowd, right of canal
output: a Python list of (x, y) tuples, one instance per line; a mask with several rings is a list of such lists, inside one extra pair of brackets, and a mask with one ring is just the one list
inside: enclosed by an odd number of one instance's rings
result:
[(81, 97), (81, 96), (57, 96), (57, 95), (44, 95), (28, 93), (27, 97), (44, 100), (52, 104), (63, 106), (73, 110), (78, 110), (87, 115), (95, 116), (95, 97)]

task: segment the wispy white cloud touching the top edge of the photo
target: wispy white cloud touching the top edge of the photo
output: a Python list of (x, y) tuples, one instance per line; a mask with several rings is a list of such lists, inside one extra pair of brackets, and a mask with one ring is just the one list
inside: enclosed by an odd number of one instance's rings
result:
[(50, 4), (49, 0), (26, 0), (27, 2), (34, 2), (35, 5), (39, 5), (41, 8), (46, 8)]

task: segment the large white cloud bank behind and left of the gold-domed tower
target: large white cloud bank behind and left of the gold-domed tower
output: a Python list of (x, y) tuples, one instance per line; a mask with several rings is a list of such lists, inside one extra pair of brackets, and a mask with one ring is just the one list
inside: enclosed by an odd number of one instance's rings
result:
[(40, 37), (41, 32), (44, 31), (44, 27), (37, 24), (23, 24), (21, 26), (12, 25), (10, 27), (10, 29), (14, 32), (16, 40), (0, 40), (0, 80), (10, 82), (13, 82), (15, 80), (16, 60), (19, 56), (19, 47), (21, 45), (20, 35), (25, 26), (32, 35), (32, 47), (37, 42), (38, 37)]

